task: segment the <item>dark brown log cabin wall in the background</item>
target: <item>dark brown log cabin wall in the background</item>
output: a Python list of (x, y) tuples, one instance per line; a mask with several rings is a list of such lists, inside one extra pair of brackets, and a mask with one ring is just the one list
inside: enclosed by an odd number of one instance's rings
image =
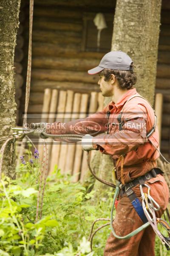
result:
[[(91, 49), (82, 50), (83, 43), (85, 44), (83, 34), (86, 29), (84, 19), (86, 14), (95, 16), (98, 12), (104, 13), (107, 17), (113, 17), (115, 4), (116, 1), (113, 0), (34, 1), (29, 111), (42, 110), (45, 88), (71, 89), (88, 93), (92, 90), (99, 91), (98, 77), (88, 76), (87, 70), (98, 65), (102, 56), (110, 49), (102, 52)], [(25, 15), (28, 15), (28, 6), (25, 7)], [(26, 20), (28, 21), (28, 16)], [(164, 95), (161, 150), (166, 157), (170, 157), (169, 26), (170, 3), (163, 0), (156, 92)], [(24, 31), (25, 41), (28, 41), (28, 22), (25, 23)], [(96, 31), (97, 29), (94, 29), (94, 33)], [(26, 62), (25, 58), (25, 64)], [(21, 111), (24, 109), (22, 105)]]

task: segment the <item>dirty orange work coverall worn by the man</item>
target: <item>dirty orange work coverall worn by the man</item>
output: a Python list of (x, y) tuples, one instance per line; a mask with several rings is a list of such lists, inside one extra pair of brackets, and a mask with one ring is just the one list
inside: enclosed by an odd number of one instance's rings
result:
[[(110, 102), (102, 111), (91, 114), (87, 118), (78, 119), (67, 123), (55, 122), (48, 124), (47, 132), (50, 134), (91, 134), (93, 147), (103, 154), (111, 155), (114, 164), (123, 155), (123, 168), (121, 161), (116, 165), (117, 179), (125, 183), (136, 177), (140, 177), (156, 167), (156, 159), (159, 152), (150, 143), (152, 141), (159, 147), (159, 133), (156, 131), (147, 139), (146, 131), (150, 131), (154, 125), (155, 117), (150, 104), (139, 97), (131, 99), (125, 105), (127, 99), (136, 93), (136, 89), (127, 90), (127, 93), (116, 104)], [(123, 125), (119, 131), (117, 117), (122, 111)], [(110, 116), (107, 118), (107, 111)], [(109, 124), (109, 126), (108, 126)], [(102, 134), (108, 130), (108, 134)], [(108, 172), (111, 170), (108, 170)], [(151, 188), (151, 196), (160, 205), (161, 209), (156, 213), (161, 217), (167, 208), (169, 189), (162, 175), (157, 175), (146, 182)], [(144, 192), (147, 192), (145, 190)], [(139, 185), (133, 188), (139, 200), (141, 194)], [(125, 236), (142, 225), (142, 220), (133, 208), (126, 195), (119, 198), (113, 227), (118, 236)], [(154, 256), (155, 233), (152, 227), (147, 227), (130, 239), (108, 238), (104, 256)]]

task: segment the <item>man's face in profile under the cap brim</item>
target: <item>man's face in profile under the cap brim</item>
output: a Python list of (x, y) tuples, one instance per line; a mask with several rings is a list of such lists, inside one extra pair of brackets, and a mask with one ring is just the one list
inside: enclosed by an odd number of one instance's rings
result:
[(102, 96), (110, 97), (113, 96), (113, 84), (111, 80), (105, 81), (105, 76), (99, 73), (99, 81), (98, 84), (100, 86), (100, 90), (102, 91)]

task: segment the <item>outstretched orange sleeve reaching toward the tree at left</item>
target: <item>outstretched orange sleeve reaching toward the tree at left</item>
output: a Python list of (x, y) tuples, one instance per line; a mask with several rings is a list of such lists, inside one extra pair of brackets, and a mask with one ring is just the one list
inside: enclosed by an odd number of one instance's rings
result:
[(48, 134), (97, 134), (104, 133), (107, 130), (106, 107), (99, 112), (91, 114), (82, 119), (76, 119), (70, 122), (48, 123), (46, 132)]

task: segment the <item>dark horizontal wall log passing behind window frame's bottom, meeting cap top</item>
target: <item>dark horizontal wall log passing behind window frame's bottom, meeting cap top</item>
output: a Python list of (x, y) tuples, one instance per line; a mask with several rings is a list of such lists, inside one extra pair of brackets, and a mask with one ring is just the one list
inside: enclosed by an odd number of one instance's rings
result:
[(101, 60), (106, 52), (81, 52), (80, 45), (56, 43), (50, 44), (33, 42), (32, 44), (33, 56), (49, 56), (49, 57), (69, 57), (69, 58), (96, 58)]

